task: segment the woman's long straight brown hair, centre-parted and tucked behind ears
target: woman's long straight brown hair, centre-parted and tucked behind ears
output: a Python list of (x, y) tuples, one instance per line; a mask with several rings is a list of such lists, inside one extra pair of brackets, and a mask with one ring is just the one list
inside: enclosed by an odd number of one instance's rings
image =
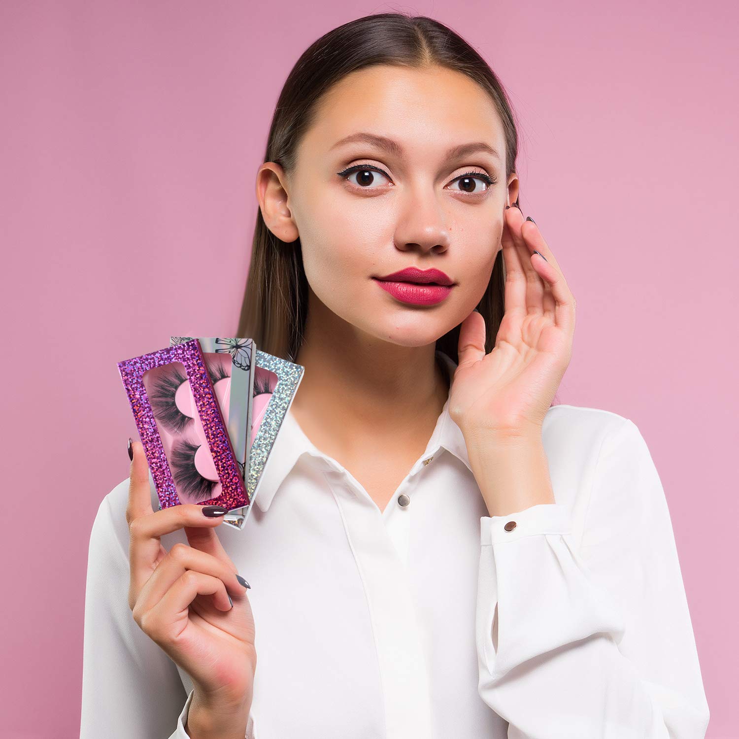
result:
[[(425, 16), (378, 13), (345, 23), (314, 41), (296, 62), (282, 87), (270, 126), (265, 162), (289, 172), (324, 92), (350, 72), (386, 64), (440, 66), (463, 72), (490, 95), (505, 133), (505, 182), (515, 171), (518, 136), (508, 97), (487, 62), (459, 35)], [(488, 288), (477, 304), (486, 322), (486, 353), (493, 350), (504, 313), (503, 252), (499, 251)], [(236, 336), (248, 336), (268, 354), (295, 361), (302, 344), (308, 306), (300, 239), (283, 242), (256, 214), (251, 265)], [(436, 341), (437, 350), (458, 362), (457, 325)]]

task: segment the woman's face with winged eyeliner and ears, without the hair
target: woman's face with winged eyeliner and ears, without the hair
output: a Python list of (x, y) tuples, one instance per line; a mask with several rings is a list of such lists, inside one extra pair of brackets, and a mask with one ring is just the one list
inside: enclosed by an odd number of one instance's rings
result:
[[(494, 151), (448, 155), (478, 142)], [(361, 167), (346, 171), (354, 165)], [(422, 346), (480, 302), (518, 185), (515, 174), (505, 180), (494, 105), (465, 75), (439, 67), (354, 72), (319, 103), (293, 171), (269, 166), (277, 177), (264, 191), (265, 222), (283, 241), (299, 236), (308, 284), (339, 318), (384, 341)], [(432, 288), (423, 303), (381, 287), (377, 278), (407, 267), (443, 271), (451, 290)]]

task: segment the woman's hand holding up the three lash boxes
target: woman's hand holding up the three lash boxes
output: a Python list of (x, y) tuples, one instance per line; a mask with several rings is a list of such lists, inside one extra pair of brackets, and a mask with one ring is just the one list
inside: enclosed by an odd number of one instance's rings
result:
[[(246, 716), (256, 670), (254, 619), (246, 588), (214, 531), (223, 517), (206, 517), (194, 503), (155, 512), (143, 446), (136, 441), (131, 448), (126, 520), (134, 621), (192, 678), (191, 712), (197, 700), (201, 712), (212, 706), (220, 715)], [(179, 528), (189, 546), (177, 542), (167, 552), (160, 537)]]

